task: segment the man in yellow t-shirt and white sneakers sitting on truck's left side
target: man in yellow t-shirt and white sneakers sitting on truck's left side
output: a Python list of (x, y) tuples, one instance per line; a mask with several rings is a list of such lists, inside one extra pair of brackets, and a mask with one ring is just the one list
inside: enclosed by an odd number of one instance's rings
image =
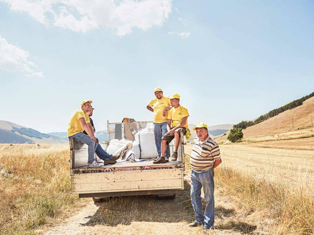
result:
[[(94, 136), (88, 115), (91, 103), (91, 100), (83, 100), (81, 109), (75, 110), (68, 126), (68, 137), (88, 145), (87, 167), (100, 167), (100, 164), (95, 162), (95, 150), (98, 145), (98, 139)], [(83, 131), (86, 131), (87, 135)]]

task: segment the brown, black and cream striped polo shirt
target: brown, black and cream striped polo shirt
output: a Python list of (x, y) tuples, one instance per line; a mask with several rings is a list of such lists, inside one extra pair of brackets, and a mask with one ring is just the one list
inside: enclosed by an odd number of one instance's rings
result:
[(204, 142), (194, 139), (190, 157), (193, 171), (200, 173), (210, 170), (216, 159), (220, 159), (219, 146), (209, 135)]

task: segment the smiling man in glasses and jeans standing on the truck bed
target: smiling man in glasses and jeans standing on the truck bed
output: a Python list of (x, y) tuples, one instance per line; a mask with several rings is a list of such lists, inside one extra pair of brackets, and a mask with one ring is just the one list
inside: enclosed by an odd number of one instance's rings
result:
[[(167, 111), (172, 108), (169, 96), (164, 96), (159, 87), (154, 89), (155, 98), (151, 99), (146, 108), (154, 113), (154, 136), (158, 158), (161, 154), (161, 137), (167, 132)], [(169, 162), (169, 145), (166, 146), (165, 161)]]

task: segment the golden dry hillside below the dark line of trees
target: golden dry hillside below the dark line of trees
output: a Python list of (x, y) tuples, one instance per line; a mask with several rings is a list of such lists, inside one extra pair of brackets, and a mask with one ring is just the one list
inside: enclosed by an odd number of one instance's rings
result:
[[(268, 120), (243, 129), (243, 138), (270, 136), (281, 132), (297, 131), (308, 128), (311, 131), (314, 122), (314, 97), (306, 99), (303, 104), (294, 109), (286, 110)], [(293, 119), (293, 126), (292, 126)], [(227, 135), (219, 136), (217, 140), (226, 140)]]

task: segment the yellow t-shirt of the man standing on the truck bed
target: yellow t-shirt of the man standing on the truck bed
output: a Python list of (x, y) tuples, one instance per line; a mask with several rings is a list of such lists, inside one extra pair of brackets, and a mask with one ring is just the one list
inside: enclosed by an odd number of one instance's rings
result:
[(170, 106), (170, 97), (163, 96), (161, 99), (151, 99), (148, 104), (150, 107), (154, 109), (154, 123), (163, 123), (167, 121), (167, 115), (163, 116), (165, 108)]

